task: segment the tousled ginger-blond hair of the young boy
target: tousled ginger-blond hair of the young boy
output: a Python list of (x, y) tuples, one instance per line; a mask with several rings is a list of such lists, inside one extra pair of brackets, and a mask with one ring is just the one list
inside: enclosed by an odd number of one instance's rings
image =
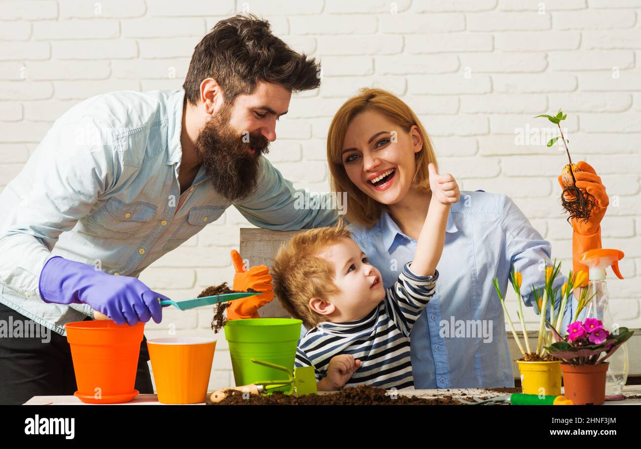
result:
[(308, 329), (326, 321), (324, 316), (310, 308), (310, 299), (326, 301), (329, 296), (340, 292), (332, 281), (335, 267), (316, 254), (351, 235), (345, 222), (339, 218), (335, 226), (294, 235), (281, 246), (274, 258), (271, 269), (274, 292), (285, 310), (294, 318), (301, 319)]

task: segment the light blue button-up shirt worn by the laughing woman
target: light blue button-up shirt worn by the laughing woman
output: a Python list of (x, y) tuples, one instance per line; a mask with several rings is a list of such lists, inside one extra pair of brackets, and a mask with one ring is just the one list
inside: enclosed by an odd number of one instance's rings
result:
[[(416, 241), (386, 212), (372, 228), (352, 224), (351, 230), (370, 263), (381, 271), (385, 288), (394, 285), (399, 269), (413, 260)], [(462, 191), (447, 217), (436, 294), (410, 334), (415, 388), (513, 387), (503, 308), (492, 278), (499, 278), (505, 296), (508, 287), (512, 289), (508, 282), (513, 264), (523, 276), (524, 303), (531, 307), (528, 293), (544, 285), (542, 267), (552, 264), (550, 256), (549, 242), (510, 198)], [(554, 286), (565, 280), (559, 276)], [(569, 304), (566, 310), (570, 309)], [(508, 311), (515, 321), (516, 311)], [(566, 315), (569, 318), (569, 312)], [(457, 333), (462, 329), (458, 320), (475, 331)]]

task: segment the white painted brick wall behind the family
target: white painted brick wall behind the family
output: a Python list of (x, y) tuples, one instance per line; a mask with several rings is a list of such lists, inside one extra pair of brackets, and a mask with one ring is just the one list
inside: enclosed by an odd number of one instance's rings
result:
[[(516, 146), (534, 115), (563, 108), (573, 160), (603, 176), (612, 205), (603, 245), (626, 253), (610, 282), (612, 312), (641, 326), (641, 1), (82, 0), (0, 2), (0, 190), (54, 119), (101, 92), (177, 89), (194, 45), (215, 22), (250, 11), (322, 60), (322, 87), (292, 99), (269, 154), (297, 187), (328, 191), (327, 128), (359, 87), (392, 90), (433, 137), (444, 171), (465, 189), (510, 195), (570, 267), (558, 206), (562, 151)], [(231, 281), (229, 250), (249, 223), (235, 209), (141, 276), (183, 299)], [(515, 310), (509, 296), (510, 310)], [(210, 310), (165, 309), (148, 337), (211, 335)], [(535, 321), (528, 310), (526, 318)], [(211, 387), (233, 384), (218, 339)]]

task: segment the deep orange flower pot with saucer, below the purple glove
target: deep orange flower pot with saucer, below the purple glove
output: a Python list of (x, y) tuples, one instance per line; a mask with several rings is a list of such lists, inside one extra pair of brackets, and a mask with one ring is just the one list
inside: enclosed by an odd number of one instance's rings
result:
[(137, 396), (134, 385), (145, 323), (76, 321), (65, 328), (78, 384), (75, 396), (86, 403), (129, 402)]

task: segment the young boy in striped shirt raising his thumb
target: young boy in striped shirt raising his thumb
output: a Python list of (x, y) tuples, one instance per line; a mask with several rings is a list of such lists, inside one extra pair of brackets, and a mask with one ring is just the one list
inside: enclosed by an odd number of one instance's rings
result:
[(383, 288), (351, 232), (331, 228), (297, 234), (274, 259), (274, 291), (310, 330), (298, 343), (296, 366), (315, 368), (319, 391), (345, 384), (413, 387), (410, 331), (434, 294), (445, 225), (459, 189), (429, 164), (431, 200), (415, 257), (394, 287)]

